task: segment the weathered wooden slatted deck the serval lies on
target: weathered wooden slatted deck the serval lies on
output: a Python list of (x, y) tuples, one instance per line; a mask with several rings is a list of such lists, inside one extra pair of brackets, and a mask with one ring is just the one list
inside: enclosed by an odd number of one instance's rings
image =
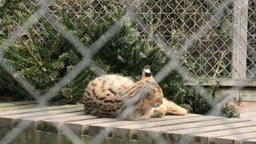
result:
[(224, 118), (187, 114), (166, 115), (144, 121), (119, 121), (85, 115), (82, 105), (37, 108), (34, 102), (7, 102), (0, 103), (0, 139), (18, 122), (25, 122), (29, 126), (23, 138), (32, 138), (33, 141), (40, 136), (31, 136), (29, 132), (43, 132), (47, 136), (44, 135), (40, 143), (49, 143), (46, 138), (54, 134), (58, 134), (54, 138), (56, 143), (65, 143), (58, 142), (64, 126), (68, 126), (80, 138), (91, 140), (101, 134), (119, 143), (256, 143), (256, 112), (251, 113), (255, 116), (245, 113), (242, 115), (244, 118)]

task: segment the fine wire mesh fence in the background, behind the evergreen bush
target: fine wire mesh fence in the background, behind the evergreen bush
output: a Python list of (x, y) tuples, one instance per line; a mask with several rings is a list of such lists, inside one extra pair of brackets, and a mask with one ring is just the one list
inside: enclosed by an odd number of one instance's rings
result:
[[(50, 15), (40, 19), (40, 22), (33, 26), (34, 35), (38, 35), (40, 39), (40, 30), (44, 29), (44, 25), (49, 22), (48, 18), (54, 18), (60, 22), (66, 23), (66, 27), (73, 27), (75, 35), (82, 34), (82, 27), (94, 25), (99, 20), (112, 18), (117, 20), (117, 12), (125, 10), (132, 1), (53, 1), (49, 5)], [(26, 0), (20, 5), (26, 17), (33, 14), (37, 10), (36, 2)], [(139, 22), (146, 24), (144, 29), (140, 29), (139, 37), (148, 38), (149, 35), (157, 34), (162, 38), (172, 50), (183, 50), (182, 43), (194, 36), (195, 32), (202, 29), (210, 21), (210, 18), (216, 14), (216, 4), (221, 5), (221, 1), (143, 1), (138, 11), (133, 17)], [(248, 3), (248, 58), (246, 62), (247, 78), (254, 78), (254, 44), (255, 44), (255, 2), (250, 0)], [(183, 63), (194, 74), (194, 77), (200, 78), (232, 78), (231, 71), (238, 69), (234, 66), (232, 57), (232, 48), (238, 45), (233, 42), (234, 34), (237, 30), (234, 28), (234, 4), (225, 7), (222, 14), (221, 22), (214, 25), (213, 28), (202, 39), (193, 45), (190, 50), (186, 50), (183, 56)], [(24, 14), (23, 14), (24, 15)], [(107, 18), (106, 18), (107, 16)], [(15, 19), (13, 24), (6, 28), (6, 33), (10, 34), (18, 24), (22, 23), (26, 18)], [(217, 20), (215, 20), (217, 21)], [(50, 22), (54, 26), (56, 22)], [(240, 34), (240, 33), (238, 33)], [(29, 35), (24, 36), (24, 41), (28, 42)], [(200, 35), (198, 35), (200, 37)], [(88, 35), (83, 35), (83, 41), (89, 42)], [(247, 40), (245, 40), (247, 41)], [(241, 65), (243, 63), (241, 62)]]

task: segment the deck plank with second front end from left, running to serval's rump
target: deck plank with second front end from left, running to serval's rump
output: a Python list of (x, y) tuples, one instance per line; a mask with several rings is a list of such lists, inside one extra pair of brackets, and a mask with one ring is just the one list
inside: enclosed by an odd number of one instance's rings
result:
[(18, 122), (26, 122), (30, 123), (27, 130), (36, 130), (36, 126), (38, 125), (39, 121), (46, 120), (46, 119), (55, 119), (55, 118), (66, 118), (66, 117), (74, 117), (78, 115), (84, 115), (84, 110), (78, 112), (70, 112), (66, 114), (54, 114), (54, 115), (43, 115), (38, 117), (30, 117), (30, 118), (21, 118)]

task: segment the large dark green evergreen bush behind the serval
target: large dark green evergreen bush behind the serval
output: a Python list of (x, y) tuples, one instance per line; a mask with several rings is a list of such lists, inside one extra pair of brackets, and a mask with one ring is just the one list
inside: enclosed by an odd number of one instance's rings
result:
[[(114, 16), (120, 18), (122, 14), (122, 10), (119, 10)], [(65, 17), (65, 13), (63, 13), (62, 22), (88, 49), (94, 49), (90, 45), (114, 24), (113, 18), (107, 15), (102, 15), (102, 17), (102, 19), (95, 20), (94, 23), (84, 21), (86, 26), (80, 26), (79, 29)], [(28, 49), (33, 54), (30, 54), (26, 46), (18, 41), (6, 50), (5, 57), (18, 70), (18, 76), (25, 77), (44, 94), (82, 60), (82, 55), (66, 38), (63, 38), (62, 34), (54, 30), (50, 23), (43, 20), (42, 22), (44, 29), (40, 31), (39, 36), (34, 34), (33, 30), (30, 30), (28, 34), (30, 38)], [(107, 74), (117, 73), (137, 80), (140, 78), (144, 66), (150, 65), (153, 73), (157, 74), (169, 62), (170, 59), (155, 46), (154, 42), (148, 38), (138, 38), (138, 30), (135, 27), (133, 22), (127, 22), (114, 38), (110, 38), (110, 41), (106, 42), (102, 50), (94, 54), (94, 62)], [(172, 34), (174, 38), (178, 38), (175, 31)], [(38, 37), (42, 38), (42, 41), (38, 40)], [(176, 45), (175, 41), (170, 49), (174, 50)], [(77, 78), (69, 82), (58, 93), (58, 96), (52, 99), (52, 102), (65, 104), (81, 101), (83, 89), (95, 76), (93, 68), (86, 68)], [(5, 81), (1, 81), (4, 77), (4, 75), (0, 75), (1, 86), (7, 86), (3, 83)], [(13, 82), (13, 80), (7, 80), (7, 82), (9, 81)], [(210, 110), (210, 105), (202, 96), (195, 90), (186, 87), (182, 77), (175, 71), (170, 72), (159, 84), (162, 86), (166, 98), (184, 106), (191, 113), (206, 114)], [(11, 87), (16, 86), (18, 87), (18, 85)], [(7, 88), (8, 86), (5, 89)], [(24, 96), (31, 98), (28, 94), (24, 94)]]

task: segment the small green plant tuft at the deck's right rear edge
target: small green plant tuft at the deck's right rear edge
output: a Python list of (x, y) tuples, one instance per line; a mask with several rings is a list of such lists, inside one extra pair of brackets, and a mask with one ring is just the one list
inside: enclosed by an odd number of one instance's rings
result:
[(235, 106), (230, 105), (230, 103), (225, 103), (220, 107), (220, 115), (227, 118), (238, 118), (239, 111)]

